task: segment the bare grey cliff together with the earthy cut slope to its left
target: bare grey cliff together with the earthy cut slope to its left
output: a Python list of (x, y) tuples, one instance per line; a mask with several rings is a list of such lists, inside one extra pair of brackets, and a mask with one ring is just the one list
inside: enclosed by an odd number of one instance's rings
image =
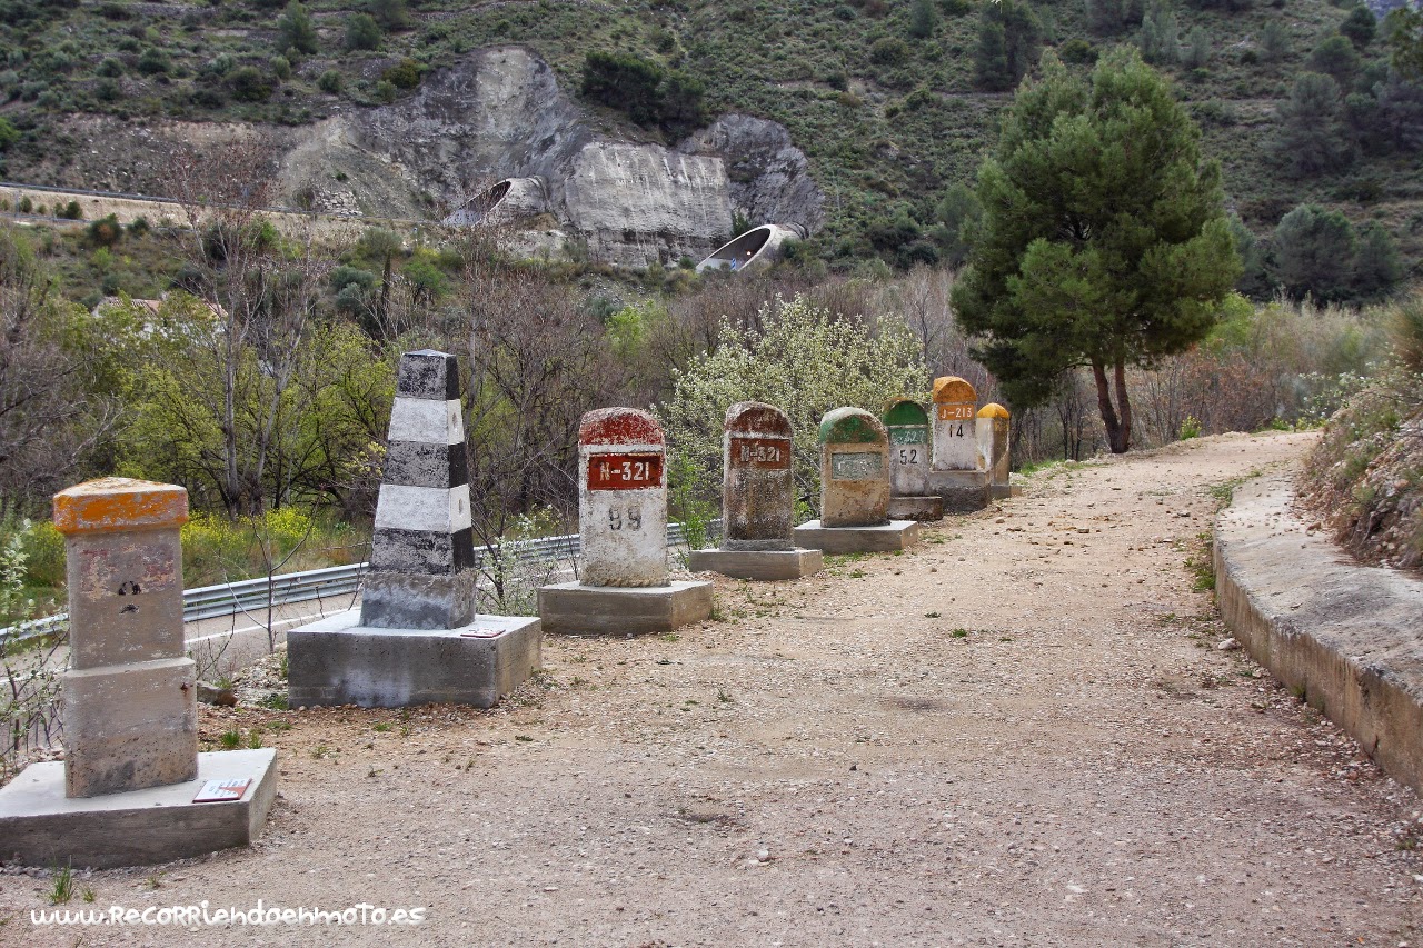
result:
[[(440, 208), (454, 226), (536, 218), (541, 249), (566, 238), (628, 266), (702, 259), (730, 239), (737, 209), (754, 225), (807, 232), (824, 216), (805, 155), (781, 125), (727, 115), (679, 148), (608, 141), (549, 65), (521, 47), (471, 53), (407, 100), (305, 127), (91, 118), (71, 134), (85, 147), (53, 177), (77, 186), (171, 195), (176, 147), (221, 167), (232, 148), (256, 141), (272, 158), (277, 204), (394, 219)], [(495, 208), (501, 195), (508, 205)]]

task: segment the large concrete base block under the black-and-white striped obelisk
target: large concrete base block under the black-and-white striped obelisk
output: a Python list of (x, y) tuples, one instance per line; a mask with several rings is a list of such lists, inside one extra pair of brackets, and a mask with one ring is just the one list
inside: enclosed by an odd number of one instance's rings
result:
[[(498, 635), (477, 638), (477, 631)], [(286, 633), (287, 702), (407, 707), (491, 707), (542, 660), (542, 626), (481, 615), (458, 629), (373, 629), (350, 609)]]

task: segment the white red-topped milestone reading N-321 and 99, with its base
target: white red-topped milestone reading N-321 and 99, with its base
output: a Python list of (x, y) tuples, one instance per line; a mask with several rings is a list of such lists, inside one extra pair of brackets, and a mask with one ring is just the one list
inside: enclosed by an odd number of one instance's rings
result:
[(712, 613), (710, 582), (667, 581), (666, 438), (636, 409), (599, 409), (578, 426), (578, 582), (539, 589), (549, 632), (670, 632)]

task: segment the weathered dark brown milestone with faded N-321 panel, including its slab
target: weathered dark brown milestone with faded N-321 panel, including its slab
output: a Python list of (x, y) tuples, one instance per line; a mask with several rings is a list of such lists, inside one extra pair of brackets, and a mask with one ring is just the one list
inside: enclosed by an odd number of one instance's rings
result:
[(795, 579), (824, 567), (818, 549), (798, 549), (791, 481), (791, 424), (760, 401), (726, 411), (721, 436), (721, 547), (692, 552), (692, 572), (739, 579)]

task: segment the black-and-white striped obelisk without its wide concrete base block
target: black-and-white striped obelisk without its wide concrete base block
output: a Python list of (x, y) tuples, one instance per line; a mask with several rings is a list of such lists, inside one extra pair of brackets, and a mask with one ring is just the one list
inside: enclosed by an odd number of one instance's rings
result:
[(388, 440), (360, 623), (468, 625), (475, 605), (474, 545), (454, 356), (421, 349), (400, 357)]

